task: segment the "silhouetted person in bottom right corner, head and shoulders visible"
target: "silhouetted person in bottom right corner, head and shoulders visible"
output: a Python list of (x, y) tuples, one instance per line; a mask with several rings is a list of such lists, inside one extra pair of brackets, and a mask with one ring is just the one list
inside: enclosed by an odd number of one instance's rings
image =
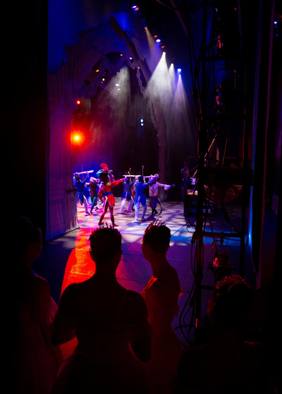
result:
[(245, 342), (240, 331), (252, 303), (251, 289), (239, 275), (217, 283), (208, 303), (210, 341), (183, 353), (175, 393), (276, 393), (264, 345)]

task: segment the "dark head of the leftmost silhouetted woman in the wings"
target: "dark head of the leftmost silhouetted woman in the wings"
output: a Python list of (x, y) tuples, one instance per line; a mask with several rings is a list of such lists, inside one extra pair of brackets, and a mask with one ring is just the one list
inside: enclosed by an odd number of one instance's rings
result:
[(17, 233), (18, 259), (29, 266), (42, 250), (41, 229), (27, 217), (22, 216), (17, 223)]

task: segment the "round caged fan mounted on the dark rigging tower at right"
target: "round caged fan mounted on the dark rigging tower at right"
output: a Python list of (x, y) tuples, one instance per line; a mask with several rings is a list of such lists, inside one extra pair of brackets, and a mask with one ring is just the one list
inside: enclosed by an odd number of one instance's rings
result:
[(206, 199), (210, 195), (212, 203), (227, 203), (241, 195), (242, 169), (231, 162), (216, 161), (207, 167), (205, 177)]

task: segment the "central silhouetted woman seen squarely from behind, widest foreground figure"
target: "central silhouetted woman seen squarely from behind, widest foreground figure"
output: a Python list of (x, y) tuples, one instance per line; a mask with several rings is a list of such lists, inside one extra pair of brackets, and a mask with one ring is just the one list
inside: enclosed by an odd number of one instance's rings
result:
[(77, 336), (74, 354), (65, 361), (52, 394), (147, 393), (140, 362), (151, 355), (147, 309), (140, 294), (116, 281), (122, 236), (112, 228), (92, 232), (94, 275), (70, 284), (53, 324), (54, 344)]

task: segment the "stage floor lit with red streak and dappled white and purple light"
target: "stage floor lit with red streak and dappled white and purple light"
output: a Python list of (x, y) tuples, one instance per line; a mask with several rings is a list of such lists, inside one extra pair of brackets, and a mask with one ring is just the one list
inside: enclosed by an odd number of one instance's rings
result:
[[(179, 299), (179, 314), (184, 307), (188, 294), (194, 282), (194, 276), (191, 269), (191, 247), (190, 243), (194, 228), (187, 227), (187, 219), (183, 216), (183, 203), (179, 201), (164, 201), (162, 203), (163, 211), (159, 217), (171, 230), (171, 242), (168, 249), (167, 258), (171, 266), (178, 273), (179, 281), (183, 289), (183, 295)], [(90, 204), (88, 204), (90, 210)], [(122, 260), (116, 271), (118, 282), (127, 289), (135, 290), (140, 293), (151, 276), (151, 266), (147, 262), (141, 251), (142, 237), (144, 230), (151, 220), (132, 223), (134, 212), (118, 214), (120, 208), (120, 199), (116, 198), (116, 207), (114, 208), (114, 217), (119, 225), (118, 230), (122, 234)], [(127, 204), (125, 206), (127, 208)], [(158, 207), (159, 208), (159, 207)], [(139, 217), (141, 216), (141, 209)], [(227, 206), (231, 223), (240, 228), (240, 209), (236, 205)], [(81, 282), (88, 279), (95, 272), (95, 264), (89, 255), (88, 238), (91, 230), (98, 227), (98, 221), (102, 208), (93, 215), (85, 216), (84, 207), (77, 205), (77, 219), (79, 229), (74, 230), (50, 241), (42, 250), (41, 256), (35, 262), (34, 270), (42, 277), (46, 278), (50, 284), (51, 295), (56, 302), (59, 301), (60, 294), (72, 282)], [(147, 214), (151, 214), (148, 207)], [(192, 223), (195, 222), (195, 216), (191, 216)], [(225, 222), (218, 211), (216, 216), (211, 218), (214, 232), (226, 231), (231, 232), (229, 225)], [(109, 212), (105, 215), (104, 222), (111, 224)], [(206, 230), (210, 231), (210, 225), (207, 223)], [(214, 274), (208, 269), (208, 264), (212, 262), (214, 249), (210, 245), (211, 238), (205, 238), (205, 263), (203, 268), (203, 285), (214, 286), (216, 284)], [(195, 249), (195, 247), (194, 247)], [(224, 241), (222, 252), (229, 253), (229, 263), (234, 268), (234, 273), (239, 271), (239, 251), (240, 240), (238, 238), (228, 238)], [(249, 258), (249, 247), (246, 247), (246, 267), (245, 277), (250, 277), (252, 267)], [(105, 289), (106, 291), (107, 289)], [(207, 303), (210, 299), (211, 290), (202, 291), (201, 314), (202, 318), (206, 316)], [(190, 321), (190, 312), (186, 316), (185, 323)], [(183, 322), (182, 322), (183, 324)], [(179, 325), (179, 317), (175, 317), (172, 327)], [(183, 342), (184, 338), (179, 329), (176, 330), (179, 339)], [(193, 333), (192, 333), (193, 335)], [(183, 342), (183, 344), (185, 344)], [(71, 351), (70, 346), (65, 349), (65, 356)]]

